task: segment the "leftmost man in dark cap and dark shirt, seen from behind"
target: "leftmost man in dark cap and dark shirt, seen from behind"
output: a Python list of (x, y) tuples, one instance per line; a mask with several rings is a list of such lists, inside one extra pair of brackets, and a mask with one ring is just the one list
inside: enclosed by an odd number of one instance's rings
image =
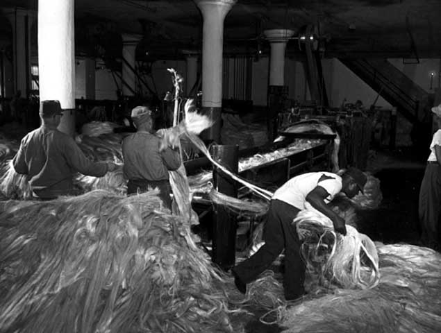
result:
[(59, 101), (42, 101), (42, 124), (22, 139), (13, 159), (15, 171), (27, 175), (34, 198), (73, 195), (74, 173), (101, 177), (117, 168), (113, 162), (88, 160), (72, 137), (57, 130), (62, 116)]

